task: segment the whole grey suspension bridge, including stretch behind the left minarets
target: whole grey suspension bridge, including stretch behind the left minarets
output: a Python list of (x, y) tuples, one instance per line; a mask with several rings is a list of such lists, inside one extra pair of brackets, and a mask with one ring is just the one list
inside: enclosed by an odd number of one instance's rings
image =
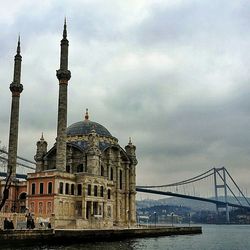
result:
[[(8, 152), (0, 149), (0, 153), (0, 161), (2, 162), (0, 177), (6, 177), (7, 170), (4, 168), (6, 168), (7, 165)], [(17, 159), (17, 167), (19, 166), (17, 169), (19, 169), (19, 171), (22, 169), (22, 173), (17, 173), (16, 176), (20, 179), (26, 179), (27, 172), (33, 172), (36, 163), (20, 156), (18, 156)], [(210, 187), (208, 185), (206, 189), (210, 191), (213, 190), (213, 193), (205, 197), (205, 195), (195, 192), (194, 184), (202, 183), (201, 185), (204, 185), (204, 181), (207, 180), (210, 180), (211, 185)], [(191, 186), (191, 189), (193, 189), (193, 194), (191, 194), (192, 191), (190, 191), (190, 189), (187, 191), (188, 186)], [(212, 203), (216, 206), (217, 214), (219, 214), (219, 210), (225, 210), (227, 223), (230, 223), (230, 207), (243, 208), (250, 211), (250, 201), (225, 167), (211, 168), (202, 174), (171, 184), (136, 186), (136, 191), (139, 193), (174, 196)], [(238, 193), (237, 195), (236, 192)], [(232, 198), (233, 202), (231, 201)]]

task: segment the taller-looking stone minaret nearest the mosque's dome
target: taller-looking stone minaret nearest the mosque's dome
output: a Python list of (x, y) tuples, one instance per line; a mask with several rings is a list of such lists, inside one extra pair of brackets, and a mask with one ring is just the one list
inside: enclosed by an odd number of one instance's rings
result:
[(66, 170), (66, 128), (67, 128), (67, 92), (71, 73), (68, 70), (68, 47), (66, 18), (63, 39), (61, 40), (60, 69), (56, 71), (59, 80), (58, 120), (56, 138), (56, 169)]

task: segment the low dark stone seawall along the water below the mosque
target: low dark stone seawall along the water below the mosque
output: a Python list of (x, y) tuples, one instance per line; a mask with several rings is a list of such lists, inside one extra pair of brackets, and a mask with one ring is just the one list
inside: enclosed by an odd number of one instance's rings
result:
[(1, 230), (0, 245), (57, 245), (76, 242), (116, 241), (127, 238), (158, 237), (169, 235), (201, 234), (197, 227), (156, 227), (127, 229), (33, 229)]

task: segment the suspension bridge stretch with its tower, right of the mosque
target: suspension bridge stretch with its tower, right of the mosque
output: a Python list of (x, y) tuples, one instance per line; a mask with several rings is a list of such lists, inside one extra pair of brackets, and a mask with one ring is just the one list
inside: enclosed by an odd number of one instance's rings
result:
[[(214, 198), (201, 197), (198, 195), (187, 194), (184, 187), (188, 185), (193, 185), (197, 182), (202, 182), (208, 178), (213, 179), (212, 188), (214, 190)], [(230, 183), (230, 184), (229, 184)], [(183, 187), (184, 193), (179, 192), (180, 187)], [(194, 186), (192, 186), (194, 187)], [(169, 191), (169, 189), (175, 188), (175, 192)], [(236, 190), (236, 191), (235, 191)], [(243, 194), (242, 190), (239, 188), (231, 174), (225, 167), (221, 168), (211, 168), (208, 171), (194, 176), (192, 178), (164, 185), (147, 185), (147, 186), (136, 186), (137, 192), (148, 193), (148, 194), (157, 194), (164, 196), (174, 196), (179, 198), (198, 200), (208, 203), (213, 203), (216, 205), (217, 214), (220, 209), (224, 209), (226, 212), (226, 221), (230, 222), (229, 216), (229, 207), (232, 208), (243, 208), (250, 211), (250, 202), (247, 199), (246, 195)], [(238, 195), (236, 195), (238, 192)], [(195, 193), (195, 192), (194, 192)], [(221, 196), (219, 196), (221, 194)], [(234, 202), (229, 202), (229, 197), (234, 198)]]

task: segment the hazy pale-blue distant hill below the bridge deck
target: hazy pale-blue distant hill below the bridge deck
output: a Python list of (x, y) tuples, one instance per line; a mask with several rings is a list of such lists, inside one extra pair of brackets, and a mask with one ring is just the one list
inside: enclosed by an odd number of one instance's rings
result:
[[(239, 201), (243, 205), (247, 205), (246, 201), (242, 197), (237, 197)], [(215, 199), (214, 197), (211, 197), (210, 199)], [(224, 201), (224, 197), (219, 197), (219, 200)], [(248, 198), (248, 201), (250, 203), (250, 198)], [(234, 197), (228, 197), (228, 202), (237, 204)], [(146, 208), (146, 207), (153, 207), (157, 205), (173, 205), (173, 206), (183, 206), (191, 208), (193, 211), (201, 211), (201, 210), (207, 210), (207, 211), (215, 211), (216, 206), (209, 202), (203, 202), (203, 201), (196, 201), (196, 200), (189, 200), (184, 198), (177, 198), (177, 197), (171, 197), (171, 198), (164, 198), (159, 200), (140, 200), (136, 201), (138, 208)]]

